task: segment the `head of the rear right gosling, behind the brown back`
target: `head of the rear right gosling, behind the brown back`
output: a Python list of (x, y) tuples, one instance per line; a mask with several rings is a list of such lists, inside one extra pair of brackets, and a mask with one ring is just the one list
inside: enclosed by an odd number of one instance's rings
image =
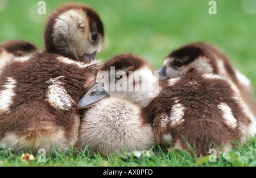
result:
[(173, 78), (192, 71), (222, 73), (220, 69), (225, 70), (224, 66), (230, 65), (224, 54), (213, 45), (192, 43), (172, 51), (158, 71), (163, 78)]

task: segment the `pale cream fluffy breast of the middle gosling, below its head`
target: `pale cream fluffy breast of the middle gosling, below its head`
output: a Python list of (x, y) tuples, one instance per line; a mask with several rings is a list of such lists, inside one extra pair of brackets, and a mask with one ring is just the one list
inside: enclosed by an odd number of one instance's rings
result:
[(92, 152), (116, 154), (144, 150), (155, 144), (152, 127), (143, 124), (140, 107), (121, 98), (106, 98), (81, 119), (79, 145)]

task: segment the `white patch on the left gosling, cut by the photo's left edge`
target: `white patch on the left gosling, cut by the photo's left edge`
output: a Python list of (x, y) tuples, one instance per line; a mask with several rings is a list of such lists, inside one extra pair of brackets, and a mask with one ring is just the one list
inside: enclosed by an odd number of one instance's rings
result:
[(8, 111), (10, 105), (12, 104), (12, 98), (15, 96), (16, 81), (14, 78), (8, 77), (7, 82), (3, 85), (3, 89), (0, 91), (0, 111)]

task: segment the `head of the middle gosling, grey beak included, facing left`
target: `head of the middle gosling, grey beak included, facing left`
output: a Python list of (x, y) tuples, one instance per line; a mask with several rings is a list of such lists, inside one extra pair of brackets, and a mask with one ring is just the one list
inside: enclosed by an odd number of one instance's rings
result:
[(108, 96), (146, 107), (157, 95), (158, 77), (151, 65), (133, 54), (122, 54), (102, 66), (96, 84), (80, 100), (79, 106), (90, 107)]

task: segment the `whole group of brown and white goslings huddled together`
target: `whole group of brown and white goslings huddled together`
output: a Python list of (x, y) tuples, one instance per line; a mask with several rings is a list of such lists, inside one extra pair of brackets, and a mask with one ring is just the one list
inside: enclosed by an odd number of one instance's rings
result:
[(23, 40), (0, 45), (0, 142), (18, 152), (159, 145), (205, 156), (256, 134), (250, 80), (213, 45), (184, 45), (157, 71), (131, 53), (102, 63), (104, 26), (81, 4), (49, 15), (43, 38), (43, 50)]

